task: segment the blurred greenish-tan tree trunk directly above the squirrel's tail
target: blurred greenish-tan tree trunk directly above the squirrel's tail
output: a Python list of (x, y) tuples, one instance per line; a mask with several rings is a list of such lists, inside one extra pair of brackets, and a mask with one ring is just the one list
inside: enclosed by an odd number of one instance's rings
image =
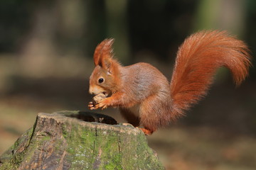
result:
[(201, 0), (195, 30), (220, 29), (242, 36), (245, 26), (244, 0)]

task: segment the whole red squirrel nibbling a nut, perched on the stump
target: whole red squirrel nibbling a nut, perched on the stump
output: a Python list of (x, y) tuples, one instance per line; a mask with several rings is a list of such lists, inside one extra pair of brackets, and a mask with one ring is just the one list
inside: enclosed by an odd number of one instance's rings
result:
[(225, 31), (201, 31), (186, 38), (178, 48), (169, 82), (159, 69), (139, 62), (123, 67), (113, 58), (113, 39), (95, 49), (95, 69), (90, 76), (90, 94), (103, 94), (90, 110), (118, 107), (128, 123), (145, 135), (184, 115), (209, 89), (219, 67), (227, 67), (239, 85), (251, 65), (247, 45)]

